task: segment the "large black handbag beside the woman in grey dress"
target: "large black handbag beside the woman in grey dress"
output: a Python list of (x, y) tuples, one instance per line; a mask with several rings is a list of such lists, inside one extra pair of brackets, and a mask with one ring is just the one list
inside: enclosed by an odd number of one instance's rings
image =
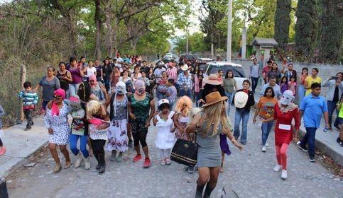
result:
[(197, 148), (199, 145), (185, 139), (176, 140), (170, 159), (177, 163), (194, 167), (197, 164)]

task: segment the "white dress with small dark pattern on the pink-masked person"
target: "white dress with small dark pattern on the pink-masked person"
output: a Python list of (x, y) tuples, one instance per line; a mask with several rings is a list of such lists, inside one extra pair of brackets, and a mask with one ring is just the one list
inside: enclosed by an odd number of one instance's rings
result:
[(70, 108), (62, 103), (59, 115), (52, 115), (51, 110), (46, 108), (46, 115), (44, 116), (45, 128), (53, 129), (53, 134), (49, 134), (50, 143), (57, 145), (68, 144), (70, 127), (67, 115), (70, 112)]

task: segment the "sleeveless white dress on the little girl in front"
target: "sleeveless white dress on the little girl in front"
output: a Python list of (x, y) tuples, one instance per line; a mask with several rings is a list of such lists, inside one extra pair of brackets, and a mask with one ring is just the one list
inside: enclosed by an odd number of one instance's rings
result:
[(160, 118), (160, 115), (156, 115), (156, 119), (158, 120), (156, 127), (157, 127), (157, 135), (156, 135), (156, 147), (160, 149), (169, 149), (173, 148), (176, 137), (175, 133), (170, 132), (170, 129), (173, 128), (173, 117), (174, 112), (171, 111), (168, 115), (168, 120), (163, 120)]

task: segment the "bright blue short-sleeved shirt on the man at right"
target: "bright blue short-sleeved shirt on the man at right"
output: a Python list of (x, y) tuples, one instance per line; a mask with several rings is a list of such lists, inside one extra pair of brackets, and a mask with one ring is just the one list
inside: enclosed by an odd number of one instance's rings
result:
[(327, 112), (327, 103), (324, 97), (312, 94), (305, 96), (300, 103), (299, 110), (302, 110), (305, 127), (320, 127), (322, 114)]

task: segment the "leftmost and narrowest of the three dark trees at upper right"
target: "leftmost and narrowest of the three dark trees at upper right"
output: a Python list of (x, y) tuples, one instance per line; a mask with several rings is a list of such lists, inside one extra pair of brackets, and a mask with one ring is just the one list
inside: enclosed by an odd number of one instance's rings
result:
[(291, 3), (291, 0), (276, 1), (274, 38), (282, 50), (288, 44)]

